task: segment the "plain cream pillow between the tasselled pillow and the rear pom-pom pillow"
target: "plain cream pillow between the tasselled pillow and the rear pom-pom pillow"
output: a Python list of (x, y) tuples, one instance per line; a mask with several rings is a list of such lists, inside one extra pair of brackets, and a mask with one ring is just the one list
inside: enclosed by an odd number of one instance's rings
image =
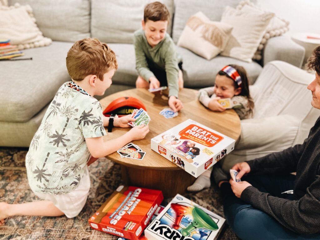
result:
[(227, 6), (222, 14), (221, 22), (233, 26), (233, 29), (221, 55), (252, 62), (253, 55), (273, 16), (274, 13), (246, 12)]

